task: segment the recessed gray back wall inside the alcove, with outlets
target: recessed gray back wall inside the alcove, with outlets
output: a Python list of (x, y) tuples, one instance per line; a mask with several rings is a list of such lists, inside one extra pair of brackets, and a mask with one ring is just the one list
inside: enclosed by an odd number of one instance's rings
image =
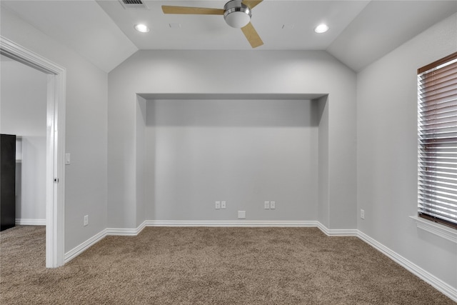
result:
[(156, 176), (148, 219), (233, 220), (244, 210), (247, 220), (316, 220), (316, 102), (158, 100), (146, 114)]

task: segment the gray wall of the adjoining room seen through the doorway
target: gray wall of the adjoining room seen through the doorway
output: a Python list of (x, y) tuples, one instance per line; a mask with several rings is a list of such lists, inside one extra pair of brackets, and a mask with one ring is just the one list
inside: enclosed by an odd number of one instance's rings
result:
[(46, 219), (46, 74), (1, 61), (0, 130), (21, 137), (16, 162), (16, 219)]

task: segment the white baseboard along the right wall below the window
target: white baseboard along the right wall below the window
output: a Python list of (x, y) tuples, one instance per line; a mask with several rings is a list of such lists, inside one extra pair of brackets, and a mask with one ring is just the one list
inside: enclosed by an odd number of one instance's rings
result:
[(397, 254), (395, 251), (388, 249), (388, 247), (372, 239), (370, 236), (364, 234), (363, 232), (358, 231), (358, 238), (365, 241), (370, 246), (373, 246), (373, 248), (377, 249), (378, 251), (381, 251), (381, 253), (388, 256), (388, 258), (392, 259), (393, 261), (396, 261), (396, 263), (403, 266), (403, 268), (410, 271), (412, 274), (418, 276), (420, 279), (423, 279), (423, 281), (426, 281), (428, 284), (431, 284), (431, 286), (433, 286), (436, 290), (440, 291), (442, 294), (448, 296), (453, 301), (457, 302), (456, 288), (453, 288), (452, 286), (441, 281), (441, 279), (438, 279), (433, 274), (430, 274), (428, 271), (425, 271), (416, 264), (413, 264), (413, 262), (409, 261), (408, 259), (405, 259), (403, 256)]

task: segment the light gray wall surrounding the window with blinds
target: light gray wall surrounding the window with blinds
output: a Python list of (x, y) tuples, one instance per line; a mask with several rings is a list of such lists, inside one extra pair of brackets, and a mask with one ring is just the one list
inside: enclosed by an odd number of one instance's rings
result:
[(457, 51), (457, 15), (357, 76), (358, 229), (457, 287), (457, 245), (418, 229), (417, 69)]

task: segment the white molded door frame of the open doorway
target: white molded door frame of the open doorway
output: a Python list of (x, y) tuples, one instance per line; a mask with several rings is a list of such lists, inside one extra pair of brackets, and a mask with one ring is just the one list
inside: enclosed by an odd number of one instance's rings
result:
[(48, 75), (46, 102), (46, 268), (64, 264), (66, 69), (0, 36), (0, 53)]

